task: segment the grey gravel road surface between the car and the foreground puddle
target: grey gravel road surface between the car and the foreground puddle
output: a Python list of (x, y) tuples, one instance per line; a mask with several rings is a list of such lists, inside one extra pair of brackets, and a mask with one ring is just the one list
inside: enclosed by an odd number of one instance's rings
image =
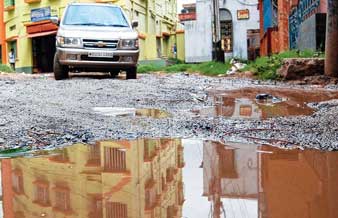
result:
[[(0, 75), (0, 147), (51, 148), (75, 142), (137, 137), (205, 138), (279, 147), (338, 149), (338, 100), (312, 103), (311, 116), (267, 120), (197, 116), (213, 105), (210, 90), (290, 87), (283, 83), (200, 75), (143, 74), (137, 80), (102, 76), (55, 81), (45, 75)], [(325, 87), (337, 90), (337, 86)], [(107, 116), (96, 107), (156, 108), (166, 118)]]

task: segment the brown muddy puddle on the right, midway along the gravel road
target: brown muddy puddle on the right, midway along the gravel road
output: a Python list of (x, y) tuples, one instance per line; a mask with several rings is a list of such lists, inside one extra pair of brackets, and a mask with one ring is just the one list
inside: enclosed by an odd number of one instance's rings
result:
[(308, 103), (338, 99), (338, 92), (300, 89), (243, 88), (213, 91), (214, 107), (193, 111), (201, 116), (225, 116), (239, 119), (311, 115)]

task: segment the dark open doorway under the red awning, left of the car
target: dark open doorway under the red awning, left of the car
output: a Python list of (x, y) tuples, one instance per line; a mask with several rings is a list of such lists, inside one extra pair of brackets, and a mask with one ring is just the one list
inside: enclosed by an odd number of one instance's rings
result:
[(53, 72), (55, 35), (32, 38), (33, 73)]

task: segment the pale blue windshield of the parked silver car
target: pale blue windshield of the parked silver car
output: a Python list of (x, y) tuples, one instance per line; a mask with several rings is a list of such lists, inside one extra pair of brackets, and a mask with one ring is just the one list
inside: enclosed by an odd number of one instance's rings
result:
[(95, 5), (69, 6), (63, 24), (115, 27), (129, 26), (120, 8)]

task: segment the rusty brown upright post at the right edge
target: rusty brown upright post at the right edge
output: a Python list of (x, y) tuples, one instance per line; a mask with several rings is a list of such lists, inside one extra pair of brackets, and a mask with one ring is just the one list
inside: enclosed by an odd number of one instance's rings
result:
[(327, 1), (325, 75), (338, 77), (338, 0)]

